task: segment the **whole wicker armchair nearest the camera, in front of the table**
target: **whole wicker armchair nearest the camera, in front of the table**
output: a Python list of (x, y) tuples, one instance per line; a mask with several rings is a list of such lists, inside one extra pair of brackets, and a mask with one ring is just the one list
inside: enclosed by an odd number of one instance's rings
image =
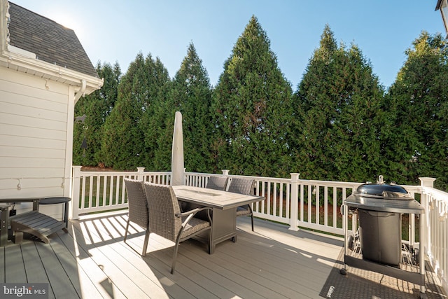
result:
[(209, 253), (211, 253), (211, 217), (208, 221), (195, 218), (198, 211), (211, 211), (203, 207), (181, 213), (179, 202), (172, 186), (144, 183), (149, 207), (151, 232), (175, 242), (171, 273), (174, 274), (179, 243), (209, 230)]

